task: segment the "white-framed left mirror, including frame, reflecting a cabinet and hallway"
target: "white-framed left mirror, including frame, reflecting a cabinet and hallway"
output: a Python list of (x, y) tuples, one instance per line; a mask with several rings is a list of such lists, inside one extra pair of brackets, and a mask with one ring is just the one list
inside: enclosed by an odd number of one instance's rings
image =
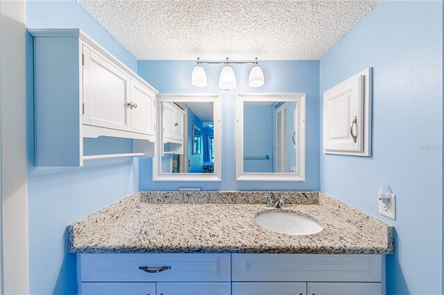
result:
[(160, 95), (153, 180), (221, 181), (219, 96)]

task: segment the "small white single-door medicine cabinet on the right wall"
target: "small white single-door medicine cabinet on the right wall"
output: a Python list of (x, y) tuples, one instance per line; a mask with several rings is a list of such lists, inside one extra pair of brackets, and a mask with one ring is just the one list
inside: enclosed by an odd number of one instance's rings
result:
[(323, 150), (370, 156), (371, 69), (324, 92)]

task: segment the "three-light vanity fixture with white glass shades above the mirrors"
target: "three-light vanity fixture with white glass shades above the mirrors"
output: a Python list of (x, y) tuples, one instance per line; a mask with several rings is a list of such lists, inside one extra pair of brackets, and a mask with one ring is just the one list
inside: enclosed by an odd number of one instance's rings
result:
[(236, 75), (231, 67), (231, 64), (253, 64), (253, 69), (250, 71), (248, 77), (248, 85), (250, 87), (261, 87), (264, 85), (264, 72), (259, 66), (259, 62), (256, 60), (253, 62), (242, 61), (242, 62), (230, 62), (228, 57), (225, 61), (212, 61), (212, 62), (201, 62), (200, 58), (197, 58), (197, 64), (194, 66), (193, 72), (191, 73), (191, 85), (195, 87), (205, 87), (207, 86), (207, 75), (205, 74), (205, 69), (203, 69), (202, 64), (224, 64), (221, 75), (219, 75), (219, 87), (225, 90), (231, 90), (237, 87)]

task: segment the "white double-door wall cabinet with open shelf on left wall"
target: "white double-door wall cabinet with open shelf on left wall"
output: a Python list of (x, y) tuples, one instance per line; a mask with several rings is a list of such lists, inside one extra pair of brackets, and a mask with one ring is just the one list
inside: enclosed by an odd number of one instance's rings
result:
[[(34, 37), (35, 166), (153, 157), (150, 84), (78, 29), (29, 29)], [(133, 153), (83, 154), (83, 138), (133, 139)]]

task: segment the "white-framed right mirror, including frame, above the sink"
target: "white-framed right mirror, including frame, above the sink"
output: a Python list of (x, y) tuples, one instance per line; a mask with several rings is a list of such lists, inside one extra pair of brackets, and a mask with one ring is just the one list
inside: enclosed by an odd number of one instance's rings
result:
[(237, 180), (305, 180), (305, 95), (237, 96)]

